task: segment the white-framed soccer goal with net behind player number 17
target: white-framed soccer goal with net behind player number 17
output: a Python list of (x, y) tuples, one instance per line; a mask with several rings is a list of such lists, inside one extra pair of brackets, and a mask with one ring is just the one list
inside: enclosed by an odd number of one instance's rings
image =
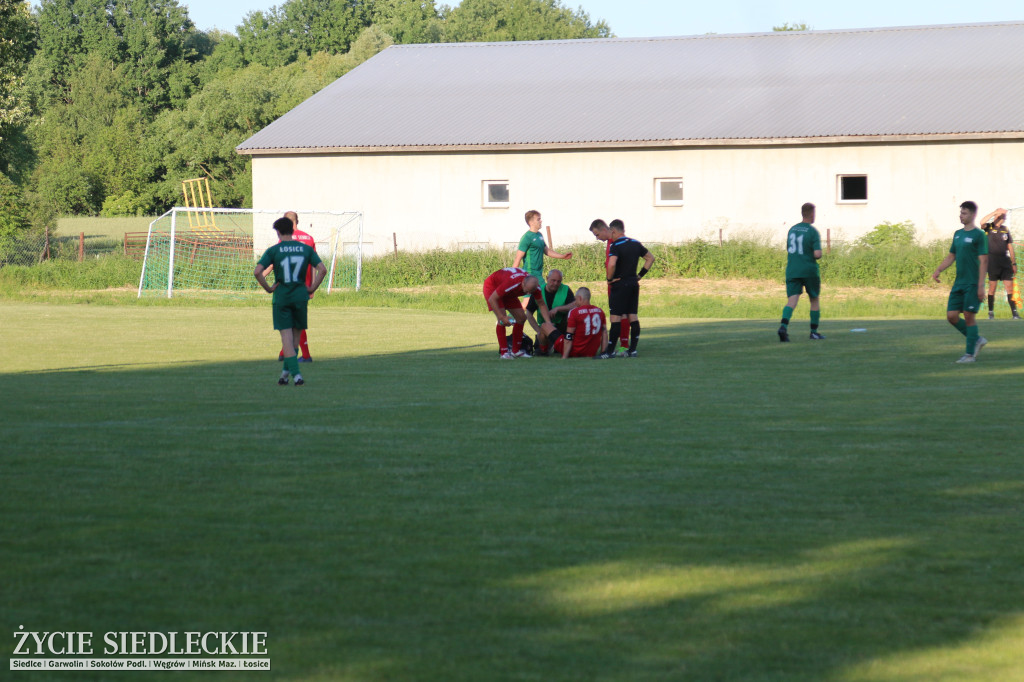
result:
[[(362, 280), (362, 213), (296, 211), (328, 267), (324, 287), (358, 290)], [(285, 211), (176, 207), (150, 223), (138, 296), (217, 295), (259, 289), (256, 260), (278, 242), (273, 221)]]

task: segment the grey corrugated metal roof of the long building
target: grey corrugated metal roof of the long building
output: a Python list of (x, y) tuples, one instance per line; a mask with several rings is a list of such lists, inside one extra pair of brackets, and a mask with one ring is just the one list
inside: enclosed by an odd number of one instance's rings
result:
[(238, 148), (1022, 131), (1024, 22), (1017, 22), (392, 46)]

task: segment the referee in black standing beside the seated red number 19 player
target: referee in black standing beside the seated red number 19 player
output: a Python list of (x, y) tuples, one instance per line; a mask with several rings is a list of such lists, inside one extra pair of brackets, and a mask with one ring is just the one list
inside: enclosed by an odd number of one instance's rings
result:
[[(612, 220), (608, 223), (611, 231), (611, 247), (605, 264), (608, 275), (608, 347), (598, 355), (601, 359), (615, 356), (615, 342), (620, 338), (620, 328), (629, 318), (630, 347), (623, 349), (624, 357), (637, 356), (637, 341), (640, 339), (640, 318), (637, 308), (640, 304), (640, 279), (647, 274), (654, 263), (654, 254), (636, 240), (626, 237), (626, 223)], [(643, 258), (643, 269), (637, 272), (637, 265)], [(625, 331), (625, 330), (623, 330)], [(622, 336), (625, 336), (623, 334)]]

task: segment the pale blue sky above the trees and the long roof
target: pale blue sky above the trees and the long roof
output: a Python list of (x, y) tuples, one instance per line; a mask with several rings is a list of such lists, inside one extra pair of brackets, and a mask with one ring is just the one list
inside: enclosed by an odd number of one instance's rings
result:
[[(188, 7), (189, 16), (200, 29), (223, 31), (233, 31), (253, 10), (284, 3), (179, 1)], [(445, 3), (441, 0), (437, 4)], [(592, 22), (603, 18), (622, 38), (759, 33), (786, 22), (824, 30), (1024, 19), (1024, 3), (1020, 0), (563, 0), (562, 4), (583, 7)]]

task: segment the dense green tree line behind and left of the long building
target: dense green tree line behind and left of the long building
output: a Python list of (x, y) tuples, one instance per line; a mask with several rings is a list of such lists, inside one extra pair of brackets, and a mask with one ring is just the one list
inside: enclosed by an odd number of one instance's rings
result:
[(393, 43), (601, 38), (560, 0), (287, 0), (234, 33), (178, 0), (0, 0), (0, 239), (56, 215), (138, 215), (208, 176), (252, 205), (234, 147)]

